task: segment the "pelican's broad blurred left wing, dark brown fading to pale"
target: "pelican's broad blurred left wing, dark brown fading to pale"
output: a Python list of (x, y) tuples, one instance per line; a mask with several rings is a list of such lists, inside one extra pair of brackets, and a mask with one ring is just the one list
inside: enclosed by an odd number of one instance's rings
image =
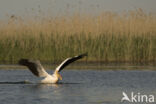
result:
[(38, 77), (46, 77), (49, 75), (38, 60), (20, 59), (18, 63), (27, 66), (29, 70)]

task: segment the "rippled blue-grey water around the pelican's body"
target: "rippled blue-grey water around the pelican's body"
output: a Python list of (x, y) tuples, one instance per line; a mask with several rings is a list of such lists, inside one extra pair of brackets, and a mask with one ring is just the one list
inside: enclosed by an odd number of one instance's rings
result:
[(28, 70), (0, 70), (0, 104), (132, 104), (121, 103), (123, 91), (156, 97), (155, 71), (63, 70), (61, 75), (58, 84), (24, 84), (37, 77)]

